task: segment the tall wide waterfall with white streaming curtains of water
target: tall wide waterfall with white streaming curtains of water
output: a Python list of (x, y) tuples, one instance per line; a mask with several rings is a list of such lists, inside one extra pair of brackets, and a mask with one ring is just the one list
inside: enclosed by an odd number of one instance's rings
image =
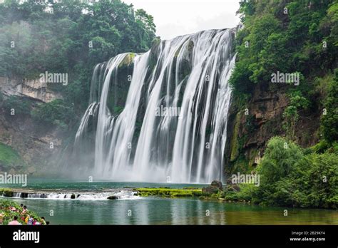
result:
[[(75, 143), (76, 150), (86, 153), (80, 147), (91, 126), (93, 176), (143, 182), (222, 180), (234, 33), (225, 29), (180, 36), (147, 53), (123, 53), (96, 66), (91, 103)], [(126, 98), (119, 103), (126, 87)]]

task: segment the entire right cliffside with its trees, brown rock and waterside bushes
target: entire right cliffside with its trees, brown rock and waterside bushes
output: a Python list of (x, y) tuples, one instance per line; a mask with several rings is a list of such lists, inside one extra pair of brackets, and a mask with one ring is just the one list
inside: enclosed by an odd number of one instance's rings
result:
[[(227, 174), (258, 173), (261, 182), (222, 197), (337, 208), (337, 1), (242, 1), (239, 14)], [(299, 78), (275, 82), (278, 73)]]

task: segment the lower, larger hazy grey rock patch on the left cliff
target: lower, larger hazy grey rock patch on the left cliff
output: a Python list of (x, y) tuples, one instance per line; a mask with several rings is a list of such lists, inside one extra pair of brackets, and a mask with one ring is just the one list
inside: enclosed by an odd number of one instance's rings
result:
[[(63, 135), (55, 128), (36, 123), (28, 115), (8, 115), (0, 108), (0, 143), (19, 153), (21, 164), (0, 169), (11, 174), (25, 172), (29, 175), (43, 175), (53, 170), (61, 148)], [(1, 161), (0, 161), (1, 164)]]

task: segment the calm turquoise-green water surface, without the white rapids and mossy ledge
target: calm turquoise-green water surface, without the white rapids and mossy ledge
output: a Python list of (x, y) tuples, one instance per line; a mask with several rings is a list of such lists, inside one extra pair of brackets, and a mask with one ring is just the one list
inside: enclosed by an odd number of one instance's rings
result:
[[(10, 185), (8, 185), (10, 186)], [(11, 185), (13, 186), (13, 185)], [(139, 182), (62, 182), (36, 180), (31, 190), (102, 192), (124, 187), (203, 187)], [(3, 187), (1, 185), (1, 187)], [(338, 224), (334, 210), (260, 207), (195, 198), (133, 197), (121, 200), (11, 198), (46, 217), (51, 224)], [(53, 214), (51, 216), (51, 213)]]

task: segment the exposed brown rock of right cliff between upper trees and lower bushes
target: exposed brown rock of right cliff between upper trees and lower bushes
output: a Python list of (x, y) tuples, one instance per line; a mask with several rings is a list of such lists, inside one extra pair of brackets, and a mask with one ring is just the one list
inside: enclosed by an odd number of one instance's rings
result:
[[(248, 100), (233, 98), (227, 125), (225, 173), (248, 172), (260, 163), (270, 138), (285, 136), (283, 113), (289, 104), (287, 88), (256, 85)], [(243, 99), (242, 99), (243, 100)], [(295, 141), (304, 148), (320, 138), (320, 109), (302, 111), (295, 125)]]

